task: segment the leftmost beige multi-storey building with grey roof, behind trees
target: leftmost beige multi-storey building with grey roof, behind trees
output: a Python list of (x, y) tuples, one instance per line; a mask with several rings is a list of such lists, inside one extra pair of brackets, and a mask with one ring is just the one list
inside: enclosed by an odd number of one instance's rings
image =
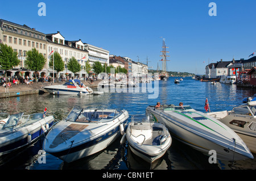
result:
[[(46, 34), (36, 31), (35, 28), (30, 28), (26, 24), (20, 25), (0, 19), (0, 43), (7, 44), (15, 52), (18, 52), (20, 60), (18, 66), (7, 71), (7, 77), (18, 77), (19, 73), (24, 71), (25, 76), (32, 78), (35, 72), (27, 69), (24, 65), (28, 50), (36, 48), (45, 58), (47, 57)], [(42, 71), (38, 72), (38, 75), (43, 77), (46, 73), (47, 65), (44, 66)]]

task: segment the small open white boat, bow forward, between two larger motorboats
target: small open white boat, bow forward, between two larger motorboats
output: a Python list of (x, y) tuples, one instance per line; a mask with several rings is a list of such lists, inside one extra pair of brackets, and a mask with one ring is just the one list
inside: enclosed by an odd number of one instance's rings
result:
[(134, 115), (126, 130), (131, 151), (148, 163), (153, 163), (170, 148), (172, 138), (168, 129), (154, 123), (150, 115)]

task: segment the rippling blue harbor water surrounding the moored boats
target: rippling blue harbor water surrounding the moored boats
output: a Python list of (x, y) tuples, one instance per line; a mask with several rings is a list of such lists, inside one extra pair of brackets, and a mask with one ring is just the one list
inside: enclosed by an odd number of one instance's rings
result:
[[(206, 98), (210, 111), (232, 110), (242, 104), (242, 99), (255, 94), (253, 89), (243, 89), (236, 85), (225, 85), (217, 82), (195, 81), (191, 77), (183, 78), (180, 83), (174, 83), (175, 77), (167, 81), (156, 81), (141, 85), (137, 89), (126, 91), (115, 90), (103, 95), (67, 96), (67, 95), (26, 95), (15, 98), (1, 99), (0, 111), (9, 114), (24, 112), (27, 114), (43, 112), (56, 120), (64, 119), (73, 107), (117, 108), (125, 109), (129, 115), (145, 114), (147, 106), (162, 104), (178, 105), (183, 102), (197, 111), (205, 112)], [(217, 161), (209, 163), (209, 157), (200, 151), (173, 139), (171, 147), (158, 162), (149, 166), (131, 153), (129, 146), (120, 145), (121, 137), (105, 150), (90, 157), (72, 163), (65, 163), (46, 153), (45, 162), (40, 161), (43, 139), (27, 149), (7, 155), (1, 160), (0, 169), (8, 170), (251, 170), (256, 169), (256, 154), (254, 159), (242, 161)]]

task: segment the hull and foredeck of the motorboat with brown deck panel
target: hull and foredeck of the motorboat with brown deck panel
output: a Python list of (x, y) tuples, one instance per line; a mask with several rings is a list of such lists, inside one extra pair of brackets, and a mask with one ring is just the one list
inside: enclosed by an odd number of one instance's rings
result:
[(119, 116), (102, 123), (60, 121), (47, 134), (43, 149), (68, 163), (95, 154), (115, 141), (120, 135), (119, 125), (128, 117), (128, 112), (124, 110)]

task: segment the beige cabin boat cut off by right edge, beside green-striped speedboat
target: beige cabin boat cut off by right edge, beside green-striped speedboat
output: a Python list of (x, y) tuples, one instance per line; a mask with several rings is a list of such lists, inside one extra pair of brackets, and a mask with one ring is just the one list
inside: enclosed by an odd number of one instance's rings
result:
[(209, 112), (238, 134), (251, 152), (256, 153), (256, 101), (234, 107), (232, 111)]

